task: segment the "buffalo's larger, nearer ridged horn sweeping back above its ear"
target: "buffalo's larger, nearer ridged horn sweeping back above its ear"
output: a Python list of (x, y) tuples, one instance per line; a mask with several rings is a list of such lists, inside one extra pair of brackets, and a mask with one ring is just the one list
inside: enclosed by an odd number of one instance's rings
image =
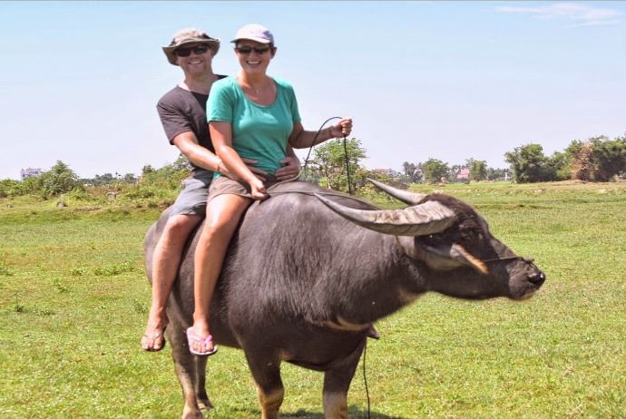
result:
[(395, 236), (435, 234), (447, 229), (455, 221), (453, 210), (432, 200), (404, 210), (355, 210), (317, 193), (315, 196), (341, 217), (366, 229)]

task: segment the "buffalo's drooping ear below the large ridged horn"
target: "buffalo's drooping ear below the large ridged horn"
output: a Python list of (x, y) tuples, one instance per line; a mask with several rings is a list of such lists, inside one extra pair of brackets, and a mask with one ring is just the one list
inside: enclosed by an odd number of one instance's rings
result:
[(489, 273), (489, 269), (479, 258), (475, 258), (470, 252), (459, 244), (450, 246), (425, 246), (414, 238), (398, 237), (400, 247), (409, 258), (422, 260), (428, 268), (434, 270), (450, 270), (463, 266), (476, 269), (483, 275)]

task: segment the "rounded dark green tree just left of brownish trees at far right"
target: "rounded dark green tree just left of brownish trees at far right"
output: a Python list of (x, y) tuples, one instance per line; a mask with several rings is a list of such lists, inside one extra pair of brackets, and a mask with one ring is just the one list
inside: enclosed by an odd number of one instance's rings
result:
[(555, 174), (540, 144), (526, 144), (504, 153), (518, 183), (554, 180)]

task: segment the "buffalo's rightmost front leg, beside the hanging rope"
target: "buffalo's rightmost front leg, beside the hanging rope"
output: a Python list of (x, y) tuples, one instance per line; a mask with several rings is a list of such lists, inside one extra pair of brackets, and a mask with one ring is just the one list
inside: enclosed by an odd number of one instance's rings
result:
[(348, 365), (324, 374), (324, 417), (347, 419), (347, 390), (357, 370), (358, 357)]

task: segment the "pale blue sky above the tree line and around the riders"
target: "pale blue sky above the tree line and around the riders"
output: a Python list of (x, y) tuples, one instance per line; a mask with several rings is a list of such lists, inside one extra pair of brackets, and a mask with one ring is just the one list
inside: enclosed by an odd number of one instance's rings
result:
[(269, 73), (294, 85), (305, 127), (352, 116), (370, 169), (504, 168), (529, 142), (551, 154), (626, 132), (626, 2), (1, 2), (0, 179), (174, 161), (155, 104), (182, 73), (161, 46), (204, 29), (233, 74), (249, 23), (274, 33)]

